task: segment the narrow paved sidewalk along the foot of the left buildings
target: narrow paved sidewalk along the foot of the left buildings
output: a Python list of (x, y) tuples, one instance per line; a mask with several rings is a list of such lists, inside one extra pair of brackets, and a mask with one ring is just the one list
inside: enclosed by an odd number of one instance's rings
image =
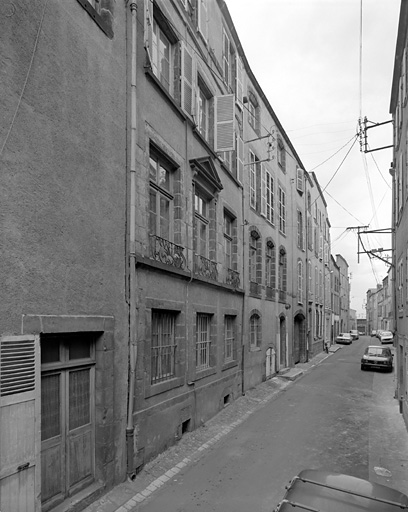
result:
[(198, 460), (204, 451), (244, 422), (253, 412), (263, 407), (309, 369), (320, 364), (341, 347), (330, 347), (307, 363), (276, 375), (250, 389), (244, 396), (229, 404), (216, 416), (193, 432), (185, 434), (175, 445), (144, 466), (134, 482), (123, 482), (88, 506), (84, 512), (127, 512), (135, 510), (159, 487), (173, 478), (182, 468)]

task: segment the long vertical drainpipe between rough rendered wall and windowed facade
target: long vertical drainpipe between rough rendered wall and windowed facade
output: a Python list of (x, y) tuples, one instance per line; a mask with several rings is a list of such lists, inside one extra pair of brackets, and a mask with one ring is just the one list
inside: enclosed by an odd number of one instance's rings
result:
[[(137, 340), (136, 340), (136, 26), (137, 26), (137, 4), (132, 2), (130, 8), (130, 100), (128, 103), (128, 119), (130, 118), (130, 152), (129, 152), (129, 195), (128, 195), (128, 216), (129, 223), (129, 390), (126, 424), (126, 453), (127, 453), (127, 476), (134, 480), (134, 423), (133, 423), (133, 402), (135, 397), (136, 361), (137, 361)], [(128, 12), (127, 12), (128, 15)], [(129, 69), (129, 65), (128, 65)]]

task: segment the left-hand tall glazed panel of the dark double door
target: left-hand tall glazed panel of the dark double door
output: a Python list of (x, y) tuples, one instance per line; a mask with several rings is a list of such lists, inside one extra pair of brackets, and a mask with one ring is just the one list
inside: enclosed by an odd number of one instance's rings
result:
[(61, 374), (41, 377), (41, 440), (61, 434)]

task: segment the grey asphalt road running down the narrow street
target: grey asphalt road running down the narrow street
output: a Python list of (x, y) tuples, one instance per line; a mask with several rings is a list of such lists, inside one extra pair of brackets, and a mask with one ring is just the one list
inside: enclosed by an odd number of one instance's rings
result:
[(389, 428), (373, 411), (392, 401), (394, 374), (361, 371), (361, 354), (369, 344), (379, 342), (361, 337), (331, 355), (138, 510), (270, 512), (288, 481), (304, 468), (371, 478), (371, 463), (378, 457), (372, 453), (373, 436), (381, 443), (378, 430)]

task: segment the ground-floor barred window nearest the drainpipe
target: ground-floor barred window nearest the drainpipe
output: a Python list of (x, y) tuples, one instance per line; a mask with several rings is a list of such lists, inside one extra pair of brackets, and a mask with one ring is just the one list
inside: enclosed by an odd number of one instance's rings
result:
[(151, 382), (155, 384), (175, 376), (176, 313), (152, 312)]

